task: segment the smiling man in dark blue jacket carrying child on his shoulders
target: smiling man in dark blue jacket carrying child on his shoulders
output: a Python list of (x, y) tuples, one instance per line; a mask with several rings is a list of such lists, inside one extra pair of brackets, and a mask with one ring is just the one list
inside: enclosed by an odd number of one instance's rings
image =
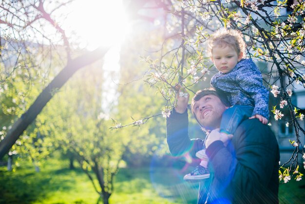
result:
[[(177, 105), (167, 119), (167, 141), (172, 155), (195, 153), (204, 141), (188, 136), (189, 98), (177, 96)], [(205, 146), (210, 179), (199, 185), (198, 204), (278, 203), (279, 147), (267, 125), (257, 119), (245, 120), (232, 138), (219, 133), (222, 113), (229, 107), (213, 89), (198, 91), (191, 110), (198, 123), (211, 130)], [(230, 140), (231, 139), (231, 140)]]

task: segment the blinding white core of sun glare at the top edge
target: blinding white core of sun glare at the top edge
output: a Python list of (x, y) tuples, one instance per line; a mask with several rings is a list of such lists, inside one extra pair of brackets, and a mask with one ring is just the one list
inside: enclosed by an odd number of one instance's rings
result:
[(119, 44), (129, 32), (122, 0), (76, 0), (66, 23), (88, 50)]

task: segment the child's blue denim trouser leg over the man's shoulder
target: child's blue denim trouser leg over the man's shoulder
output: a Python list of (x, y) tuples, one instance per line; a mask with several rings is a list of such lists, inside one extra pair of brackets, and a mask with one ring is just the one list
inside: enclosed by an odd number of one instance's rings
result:
[(233, 134), (238, 125), (251, 117), (253, 107), (249, 105), (233, 105), (225, 110), (220, 123), (220, 132)]

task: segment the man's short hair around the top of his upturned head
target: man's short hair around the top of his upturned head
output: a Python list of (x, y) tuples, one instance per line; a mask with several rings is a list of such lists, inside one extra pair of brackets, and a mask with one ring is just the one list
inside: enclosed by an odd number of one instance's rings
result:
[[(207, 95), (214, 95), (217, 96), (220, 101), (227, 107), (231, 106), (230, 102), (228, 101), (227, 97), (225, 96), (225, 94), (217, 92), (215, 89), (213, 88), (205, 88), (202, 90), (199, 90), (195, 93), (195, 96), (193, 97), (193, 99), (191, 100), (191, 112), (193, 114), (193, 116), (195, 117), (196, 121), (199, 123), (198, 119), (196, 118), (195, 112), (194, 112), (194, 103), (199, 101), (202, 97), (207, 96)], [(199, 123), (200, 124), (200, 123)]]

